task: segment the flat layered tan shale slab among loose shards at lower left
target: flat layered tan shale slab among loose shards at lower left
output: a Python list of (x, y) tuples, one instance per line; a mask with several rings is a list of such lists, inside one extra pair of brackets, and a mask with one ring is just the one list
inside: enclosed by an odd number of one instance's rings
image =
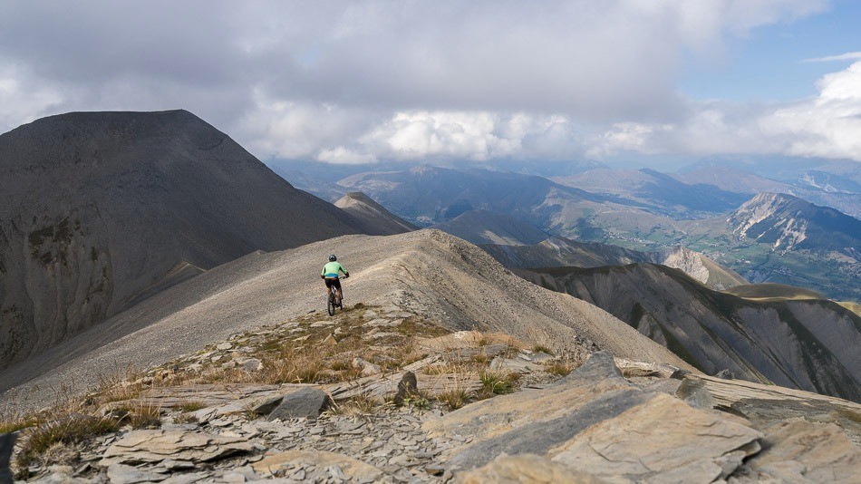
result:
[(254, 446), (241, 437), (196, 431), (131, 431), (105, 450), (101, 463), (110, 466), (166, 459), (200, 463), (253, 449)]

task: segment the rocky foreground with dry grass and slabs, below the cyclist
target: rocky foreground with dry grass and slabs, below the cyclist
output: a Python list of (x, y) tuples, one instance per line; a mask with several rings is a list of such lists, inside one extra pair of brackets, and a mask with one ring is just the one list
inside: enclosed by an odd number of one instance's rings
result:
[[(92, 416), (76, 418), (117, 428), (15, 470), (126, 484), (861, 475), (855, 403), (595, 349), (449, 333), (396, 306), (314, 313), (102, 388), (88, 397)], [(49, 425), (21, 431), (19, 464)]]

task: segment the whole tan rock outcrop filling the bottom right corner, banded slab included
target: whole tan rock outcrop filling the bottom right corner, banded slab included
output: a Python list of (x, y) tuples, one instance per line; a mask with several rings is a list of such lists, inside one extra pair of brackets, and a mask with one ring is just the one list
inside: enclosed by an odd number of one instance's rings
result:
[(849, 482), (861, 470), (861, 451), (836, 425), (779, 416), (756, 425), (694, 408), (626, 382), (605, 353), (545, 389), (477, 402), (423, 428), (472, 436), (443, 454), (466, 482)]

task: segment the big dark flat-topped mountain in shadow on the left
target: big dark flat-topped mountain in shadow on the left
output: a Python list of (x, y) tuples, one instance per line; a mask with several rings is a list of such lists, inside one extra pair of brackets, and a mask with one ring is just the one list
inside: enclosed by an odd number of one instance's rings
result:
[(0, 367), (257, 249), (360, 231), (188, 111), (0, 136)]

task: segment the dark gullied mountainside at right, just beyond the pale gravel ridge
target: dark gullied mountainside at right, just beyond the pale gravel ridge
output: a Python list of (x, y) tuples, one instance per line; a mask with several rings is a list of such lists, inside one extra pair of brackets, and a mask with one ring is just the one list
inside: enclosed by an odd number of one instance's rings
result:
[(518, 274), (604, 308), (705, 373), (861, 401), (861, 318), (836, 303), (751, 301), (651, 264)]

